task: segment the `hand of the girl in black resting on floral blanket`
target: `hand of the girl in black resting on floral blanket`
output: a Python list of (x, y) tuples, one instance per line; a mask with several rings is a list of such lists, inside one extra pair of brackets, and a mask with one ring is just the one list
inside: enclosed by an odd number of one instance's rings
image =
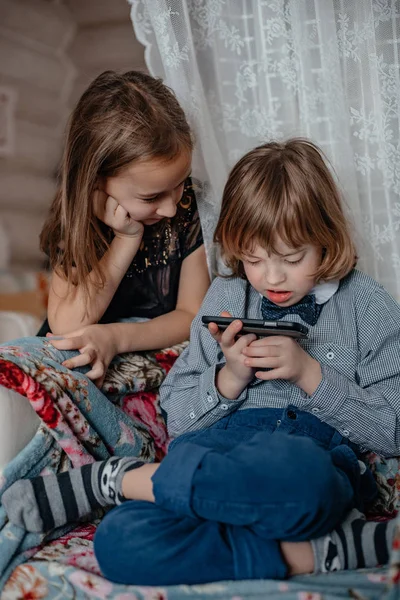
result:
[(65, 360), (62, 364), (67, 369), (75, 369), (91, 365), (86, 377), (92, 379), (101, 388), (108, 366), (118, 354), (116, 336), (112, 325), (88, 325), (77, 331), (72, 331), (52, 340), (52, 334), (47, 334), (50, 343), (57, 350), (79, 350), (80, 355)]

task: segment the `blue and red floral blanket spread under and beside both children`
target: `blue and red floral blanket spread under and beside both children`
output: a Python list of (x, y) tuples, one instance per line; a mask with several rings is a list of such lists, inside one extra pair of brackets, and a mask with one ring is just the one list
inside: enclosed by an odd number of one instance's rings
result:
[[(15, 480), (60, 472), (111, 455), (160, 460), (168, 442), (158, 388), (185, 344), (116, 357), (100, 391), (84, 373), (61, 363), (74, 355), (43, 338), (0, 346), (0, 385), (26, 396), (42, 420), (36, 436), (0, 473), (1, 494)], [(393, 517), (400, 481), (397, 459), (368, 457), (380, 485), (372, 516)], [(220, 582), (168, 588), (124, 586), (105, 580), (93, 553), (97, 520), (51, 534), (32, 534), (10, 524), (0, 506), (0, 596), (112, 600), (397, 598), (400, 534), (390, 569), (297, 577), (287, 582)], [(400, 521), (399, 521), (400, 522)]]

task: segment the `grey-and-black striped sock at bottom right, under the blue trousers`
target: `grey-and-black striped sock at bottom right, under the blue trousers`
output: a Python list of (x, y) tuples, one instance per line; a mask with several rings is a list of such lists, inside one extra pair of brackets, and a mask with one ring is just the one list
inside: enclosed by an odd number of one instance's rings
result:
[(366, 521), (362, 513), (352, 510), (337, 529), (311, 541), (314, 573), (386, 565), (394, 538), (395, 521)]

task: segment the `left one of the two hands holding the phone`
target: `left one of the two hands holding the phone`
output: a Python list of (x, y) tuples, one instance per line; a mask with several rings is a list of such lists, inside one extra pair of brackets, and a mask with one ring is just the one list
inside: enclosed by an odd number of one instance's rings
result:
[[(227, 311), (221, 313), (221, 317), (231, 317), (232, 315)], [(246, 366), (245, 360), (246, 356), (243, 353), (243, 350), (254, 342), (257, 339), (254, 333), (248, 333), (247, 335), (242, 335), (239, 338), (236, 336), (240, 333), (240, 330), (243, 327), (243, 323), (237, 319), (233, 321), (225, 331), (221, 331), (218, 328), (216, 323), (210, 323), (208, 326), (208, 330), (213, 336), (213, 338), (219, 343), (222, 352), (224, 353), (226, 359), (226, 365), (224, 367), (225, 377), (227, 372), (229, 372), (229, 378), (232, 383), (235, 382), (238, 384), (239, 388), (244, 389), (246, 385), (253, 379), (255, 370)], [(222, 390), (220, 392), (223, 395)]]

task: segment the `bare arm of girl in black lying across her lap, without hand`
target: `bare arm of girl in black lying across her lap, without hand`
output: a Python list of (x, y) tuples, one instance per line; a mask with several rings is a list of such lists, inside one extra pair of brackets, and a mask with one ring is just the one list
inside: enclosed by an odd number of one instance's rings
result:
[(182, 262), (175, 310), (144, 323), (113, 323), (118, 352), (167, 348), (188, 339), (190, 325), (210, 285), (204, 246)]

